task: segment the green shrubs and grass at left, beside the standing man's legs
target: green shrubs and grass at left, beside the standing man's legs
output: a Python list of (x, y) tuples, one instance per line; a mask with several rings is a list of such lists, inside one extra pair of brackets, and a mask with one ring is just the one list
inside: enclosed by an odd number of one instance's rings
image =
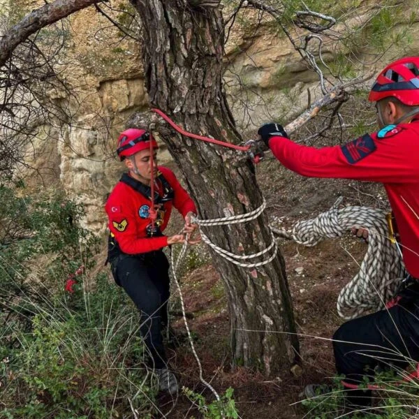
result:
[(138, 312), (108, 274), (89, 277), (82, 206), (6, 186), (0, 200), (0, 418), (122, 418), (131, 404), (150, 417)]

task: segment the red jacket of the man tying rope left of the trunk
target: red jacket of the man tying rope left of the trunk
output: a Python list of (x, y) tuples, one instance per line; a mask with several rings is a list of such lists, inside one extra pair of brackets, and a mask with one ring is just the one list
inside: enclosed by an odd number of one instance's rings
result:
[[(196, 213), (196, 207), (188, 193), (177, 181), (175, 174), (168, 168), (159, 166), (159, 170), (172, 186), (174, 192), (173, 200), (163, 203), (159, 210), (161, 217), (160, 230), (168, 225), (172, 206), (174, 206), (183, 217), (188, 212)], [(161, 184), (157, 184), (156, 191), (161, 192)], [(105, 205), (108, 214), (108, 227), (115, 235), (119, 248), (128, 254), (146, 253), (159, 250), (168, 245), (168, 237), (147, 237), (146, 228), (151, 223), (148, 218), (150, 200), (142, 193), (135, 191), (124, 182), (118, 182), (110, 193)]]

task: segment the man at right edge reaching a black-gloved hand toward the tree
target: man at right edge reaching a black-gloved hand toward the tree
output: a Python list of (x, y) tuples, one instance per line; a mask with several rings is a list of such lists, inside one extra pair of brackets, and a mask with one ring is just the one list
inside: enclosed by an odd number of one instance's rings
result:
[[(286, 168), (300, 175), (383, 183), (406, 270), (419, 279), (419, 57), (399, 59), (384, 68), (368, 99), (376, 102), (379, 131), (342, 146), (297, 145), (279, 124), (266, 124), (258, 134)], [(346, 382), (373, 376), (375, 367), (391, 363), (404, 368), (409, 360), (419, 361), (419, 287), (416, 281), (411, 283), (395, 307), (348, 321), (335, 332), (337, 372), (346, 376)], [(306, 394), (314, 395), (314, 387), (308, 386)], [(346, 395), (352, 405), (371, 403), (370, 391)]]

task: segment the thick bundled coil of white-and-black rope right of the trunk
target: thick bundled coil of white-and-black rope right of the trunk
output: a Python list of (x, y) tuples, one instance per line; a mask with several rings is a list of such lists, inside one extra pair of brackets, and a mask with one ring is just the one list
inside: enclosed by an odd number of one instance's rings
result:
[(288, 237), (304, 246), (315, 246), (325, 237), (339, 237), (353, 227), (368, 230), (368, 249), (360, 270), (337, 299), (339, 316), (350, 320), (367, 311), (383, 309), (406, 277), (406, 270), (397, 247), (388, 237), (386, 212), (369, 207), (338, 209), (340, 203), (338, 200), (314, 219), (298, 222)]

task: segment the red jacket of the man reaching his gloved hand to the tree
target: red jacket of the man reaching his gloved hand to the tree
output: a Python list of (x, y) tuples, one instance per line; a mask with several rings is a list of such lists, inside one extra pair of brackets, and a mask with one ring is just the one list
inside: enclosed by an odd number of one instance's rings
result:
[(419, 278), (419, 118), (343, 146), (316, 149), (272, 137), (269, 147), (286, 168), (303, 176), (382, 182), (397, 222), (404, 264)]

